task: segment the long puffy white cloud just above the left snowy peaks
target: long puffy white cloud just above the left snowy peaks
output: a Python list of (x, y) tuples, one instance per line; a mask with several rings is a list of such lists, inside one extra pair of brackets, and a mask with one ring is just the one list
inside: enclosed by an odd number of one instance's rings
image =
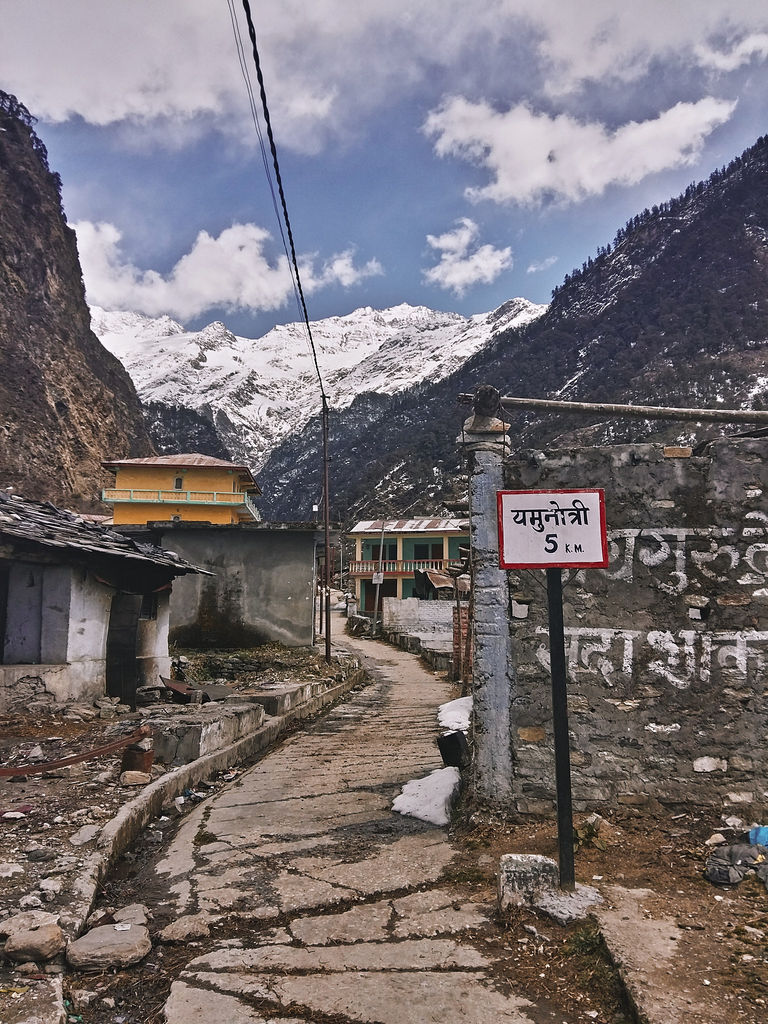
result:
[[(200, 231), (189, 252), (167, 274), (141, 270), (127, 261), (114, 224), (80, 221), (73, 226), (88, 301), (106, 309), (187, 319), (213, 307), (278, 309), (293, 294), (285, 255), (268, 257), (265, 249), (271, 237), (256, 224), (232, 224), (216, 238)], [(356, 267), (351, 250), (321, 265), (315, 256), (301, 257), (299, 265), (307, 294), (333, 285), (350, 287), (382, 273), (378, 260)]]

